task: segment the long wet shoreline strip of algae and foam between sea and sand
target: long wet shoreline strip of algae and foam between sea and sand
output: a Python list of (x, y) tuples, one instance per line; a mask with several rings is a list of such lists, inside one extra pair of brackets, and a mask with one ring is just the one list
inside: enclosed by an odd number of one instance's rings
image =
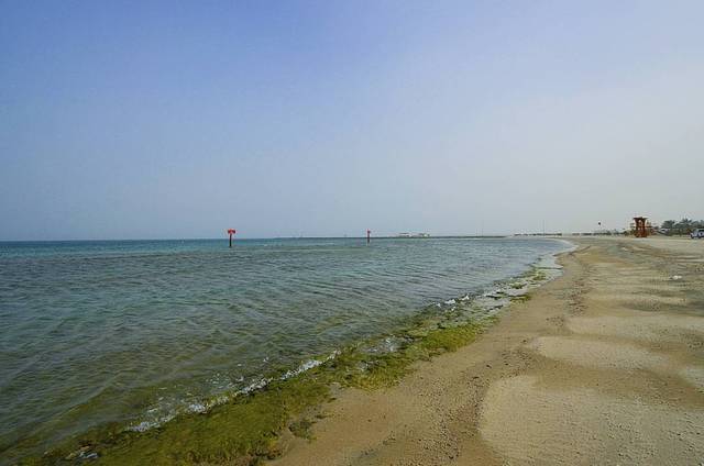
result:
[[(230, 455), (240, 457), (244, 462), (242, 464), (248, 464), (250, 461), (256, 462), (262, 457), (271, 458), (280, 453), (277, 445), (278, 433), (282, 433), (282, 437), (285, 439), (287, 434), (298, 429), (299, 432), (296, 434), (302, 437), (309, 436), (308, 429), (311, 422), (304, 419), (300, 424), (300, 411), (316, 410), (328, 399), (330, 392), (339, 391), (339, 387), (365, 389), (392, 387), (411, 370), (409, 366), (417, 360), (426, 360), (438, 354), (455, 351), (474, 340), (479, 333), (493, 324), (496, 312), (509, 306), (510, 302), (529, 299), (529, 292), (552, 280), (559, 274), (554, 271), (559, 268), (553, 263), (556, 254), (560, 253), (540, 256), (526, 273), (495, 281), (486, 286), (484, 291), (427, 306), (397, 329), (342, 347), (332, 354), (302, 362), (298, 367), (271, 374), (249, 388), (231, 395), (221, 395), (207, 403), (199, 404), (199, 409), (193, 412), (164, 420), (161, 425), (148, 426), (148, 429), (133, 423), (128, 426), (105, 425), (54, 445), (42, 457), (29, 459), (52, 463), (62, 459), (80, 462), (100, 458), (101, 463), (120, 463), (135, 453), (135, 448), (130, 446), (134, 443), (142, 444), (140, 451), (143, 453), (151, 448), (151, 455), (158, 458), (157, 463), (184, 459), (219, 463), (228, 459)], [(304, 390), (301, 391), (297, 386), (304, 386)], [(183, 437), (179, 431), (193, 430), (194, 424), (210, 431), (218, 423), (211, 423), (209, 419), (233, 418), (232, 412), (227, 413), (232, 411), (232, 406), (235, 406), (234, 411), (239, 415), (245, 417), (253, 414), (250, 412), (253, 411), (250, 409), (252, 404), (261, 404), (255, 407), (260, 414), (262, 410), (271, 411), (266, 403), (253, 402), (272, 398), (271, 393), (267, 393), (270, 391), (278, 393), (278, 398), (274, 397), (270, 400), (271, 402), (288, 403), (295, 407), (284, 407), (283, 410), (274, 413), (274, 419), (270, 419), (271, 412), (264, 412), (260, 417), (266, 419), (262, 425), (253, 429), (253, 435), (249, 432), (248, 435), (243, 435), (243, 440), (234, 439), (234, 444), (231, 446), (223, 447), (216, 442), (207, 451), (189, 451), (185, 456), (183, 448), (180, 452), (168, 447), (163, 448), (164, 432), (176, 433), (183, 443), (191, 443), (191, 439)], [(256, 425), (260, 420), (251, 419), (250, 421)], [(246, 428), (246, 425), (235, 424), (242, 424), (242, 422), (239, 419), (230, 419), (217, 426), (222, 430)], [(305, 425), (305, 429), (301, 430), (300, 425), (297, 428), (298, 424)], [(229, 439), (228, 442), (233, 443), (231, 437), (232, 435), (227, 434), (223, 436)]]

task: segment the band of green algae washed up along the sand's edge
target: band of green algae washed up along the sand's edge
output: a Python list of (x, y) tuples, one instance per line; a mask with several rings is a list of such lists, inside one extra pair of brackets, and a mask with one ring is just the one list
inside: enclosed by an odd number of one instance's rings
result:
[(429, 331), (409, 340), (398, 351), (370, 354), (359, 346), (338, 357), (263, 389), (213, 407), (208, 413), (183, 414), (146, 432), (95, 431), (25, 464), (80, 463), (98, 458), (101, 464), (256, 464), (279, 454), (282, 431), (308, 437), (310, 421), (292, 419), (330, 397), (333, 382), (343, 387), (375, 389), (396, 384), (417, 360), (429, 359), (470, 343), (491, 322), (468, 323)]

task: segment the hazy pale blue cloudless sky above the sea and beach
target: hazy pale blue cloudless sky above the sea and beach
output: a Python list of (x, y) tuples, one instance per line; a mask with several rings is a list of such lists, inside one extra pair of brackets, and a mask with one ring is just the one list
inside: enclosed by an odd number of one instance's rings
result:
[(0, 241), (704, 218), (702, 1), (0, 0)]

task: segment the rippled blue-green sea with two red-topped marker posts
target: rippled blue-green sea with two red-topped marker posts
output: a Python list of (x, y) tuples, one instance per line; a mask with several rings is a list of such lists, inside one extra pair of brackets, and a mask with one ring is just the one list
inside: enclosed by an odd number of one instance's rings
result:
[(0, 458), (146, 429), (392, 331), (565, 248), (552, 240), (0, 243)]

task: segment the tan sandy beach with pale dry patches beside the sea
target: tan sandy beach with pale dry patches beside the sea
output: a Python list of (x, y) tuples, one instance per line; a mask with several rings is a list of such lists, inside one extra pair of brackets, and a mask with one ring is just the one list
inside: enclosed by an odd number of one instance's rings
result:
[(342, 390), (272, 464), (704, 464), (704, 241), (574, 242), (475, 343)]

